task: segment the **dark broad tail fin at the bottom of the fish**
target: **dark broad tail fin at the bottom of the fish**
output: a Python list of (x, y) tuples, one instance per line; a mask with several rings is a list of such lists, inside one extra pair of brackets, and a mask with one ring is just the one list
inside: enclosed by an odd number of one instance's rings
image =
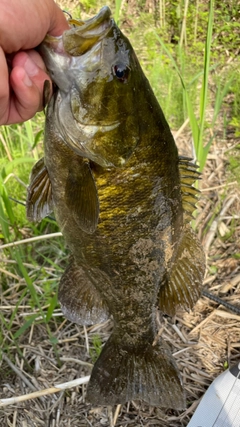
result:
[(179, 371), (164, 343), (128, 348), (114, 334), (94, 365), (86, 399), (94, 405), (140, 399), (152, 406), (185, 408)]

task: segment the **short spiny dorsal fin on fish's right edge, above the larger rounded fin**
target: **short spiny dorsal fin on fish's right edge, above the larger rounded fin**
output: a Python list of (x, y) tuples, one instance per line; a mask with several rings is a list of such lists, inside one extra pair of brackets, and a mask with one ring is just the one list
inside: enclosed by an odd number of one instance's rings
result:
[(188, 157), (179, 156), (179, 173), (181, 180), (182, 206), (184, 210), (184, 220), (189, 222), (196, 209), (199, 190), (193, 187), (196, 180), (200, 179), (198, 166)]

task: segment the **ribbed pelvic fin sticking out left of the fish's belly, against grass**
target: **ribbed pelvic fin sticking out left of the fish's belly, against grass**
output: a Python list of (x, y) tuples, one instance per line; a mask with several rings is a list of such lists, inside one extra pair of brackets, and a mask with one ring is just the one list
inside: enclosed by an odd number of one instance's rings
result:
[(52, 185), (43, 157), (32, 168), (26, 207), (30, 221), (40, 221), (53, 211)]

